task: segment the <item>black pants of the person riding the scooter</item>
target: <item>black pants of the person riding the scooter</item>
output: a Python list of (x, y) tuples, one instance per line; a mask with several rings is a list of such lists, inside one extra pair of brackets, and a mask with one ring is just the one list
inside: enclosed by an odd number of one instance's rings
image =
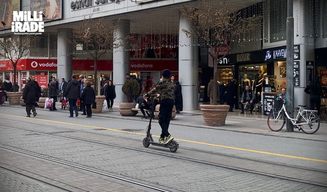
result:
[(172, 117), (172, 110), (174, 107), (174, 100), (173, 99), (162, 99), (160, 102), (159, 108), (159, 124), (161, 126), (161, 138), (165, 138), (169, 136), (168, 128), (170, 119)]

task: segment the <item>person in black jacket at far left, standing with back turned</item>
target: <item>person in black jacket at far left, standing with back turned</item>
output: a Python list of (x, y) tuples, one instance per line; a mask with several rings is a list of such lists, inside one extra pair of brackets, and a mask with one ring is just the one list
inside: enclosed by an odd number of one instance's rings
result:
[(36, 99), (36, 93), (34, 89), (34, 81), (32, 81), (31, 77), (27, 78), (27, 84), (25, 86), (24, 92), (22, 93), (22, 99), (24, 99), (24, 102), (26, 103), (26, 117), (31, 117), (31, 110), (33, 112), (33, 116), (36, 116), (36, 110), (35, 110), (35, 99)]

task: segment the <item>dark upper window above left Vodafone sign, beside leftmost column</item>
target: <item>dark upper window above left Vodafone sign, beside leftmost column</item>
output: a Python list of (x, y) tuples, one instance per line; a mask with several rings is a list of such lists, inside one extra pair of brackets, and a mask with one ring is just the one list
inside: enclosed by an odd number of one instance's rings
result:
[(31, 57), (48, 57), (48, 34), (35, 36), (31, 39)]

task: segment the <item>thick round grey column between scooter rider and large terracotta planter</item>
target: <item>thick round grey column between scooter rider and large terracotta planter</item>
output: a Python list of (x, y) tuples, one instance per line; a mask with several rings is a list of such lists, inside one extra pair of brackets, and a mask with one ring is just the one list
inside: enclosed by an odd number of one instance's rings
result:
[(193, 38), (187, 37), (182, 31), (191, 31), (191, 28), (191, 22), (179, 16), (178, 79), (185, 110), (198, 109), (198, 47), (193, 45)]

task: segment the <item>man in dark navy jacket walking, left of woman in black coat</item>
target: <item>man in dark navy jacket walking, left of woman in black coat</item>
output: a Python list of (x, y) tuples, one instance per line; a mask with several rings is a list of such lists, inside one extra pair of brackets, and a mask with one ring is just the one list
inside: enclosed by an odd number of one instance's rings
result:
[(76, 80), (76, 75), (72, 75), (72, 80), (68, 82), (65, 92), (63, 93), (64, 97), (68, 98), (69, 102), (69, 117), (73, 117), (74, 111), (76, 117), (78, 117), (78, 109), (76, 101), (80, 95), (80, 82)]

